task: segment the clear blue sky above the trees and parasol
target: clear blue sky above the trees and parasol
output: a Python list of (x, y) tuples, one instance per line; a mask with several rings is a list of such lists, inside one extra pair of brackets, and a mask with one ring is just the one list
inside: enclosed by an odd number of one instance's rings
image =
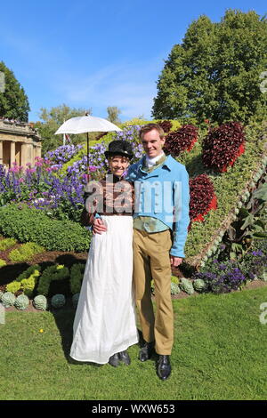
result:
[(219, 21), (226, 9), (255, 10), (266, 1), (12, 1), (0, 6), (0, 60), (28, 94), (29, 120), (41, 107), (66, 103), (106, 117), (150, 119), (157, 80), (192, 20)]

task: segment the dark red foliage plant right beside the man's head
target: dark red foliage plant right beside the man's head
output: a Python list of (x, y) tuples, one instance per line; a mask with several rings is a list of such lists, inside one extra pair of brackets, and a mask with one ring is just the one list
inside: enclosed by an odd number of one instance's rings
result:
[(166, 135), (164, 150), (173, 157), (178, 157), (184, 151), (190, 151), (198, 140), (198, 128), (194, 125), (182, 125), (180, 129)]

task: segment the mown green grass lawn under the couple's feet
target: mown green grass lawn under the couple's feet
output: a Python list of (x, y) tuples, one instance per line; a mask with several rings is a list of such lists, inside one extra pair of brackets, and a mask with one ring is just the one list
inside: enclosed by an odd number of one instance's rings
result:
[[(266, 399), (267, 325), (259, 321), (267, 287), (174, 300), (173, 372), (155, 358), (131, 366), (69, 360), (74, 310), (6, 311), (0, 325), (0, 399)], [(40, 333), (44, 329), (44, 333)]]

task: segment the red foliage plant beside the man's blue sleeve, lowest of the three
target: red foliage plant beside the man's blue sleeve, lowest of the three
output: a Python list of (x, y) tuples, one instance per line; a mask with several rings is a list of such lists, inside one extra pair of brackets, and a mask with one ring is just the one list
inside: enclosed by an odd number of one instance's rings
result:
[(190, 223), (204, 221), (204, 215), (217, 208), (214, 184), (206, 174), (190, 179)]

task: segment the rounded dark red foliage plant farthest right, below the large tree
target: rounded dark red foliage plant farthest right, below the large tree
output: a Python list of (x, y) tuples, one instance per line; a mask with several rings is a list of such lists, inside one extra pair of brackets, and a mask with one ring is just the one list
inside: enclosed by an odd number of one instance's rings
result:
[(244, 127), (239, 122), (229, 122), (211, 129), (202, 145), (203, 164), (224, 173), (245, 151)]

